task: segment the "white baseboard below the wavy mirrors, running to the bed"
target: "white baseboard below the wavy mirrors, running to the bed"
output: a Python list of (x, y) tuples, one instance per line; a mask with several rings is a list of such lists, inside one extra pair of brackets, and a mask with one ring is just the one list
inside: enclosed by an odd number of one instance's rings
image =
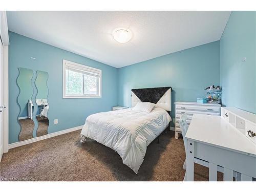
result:
[(11, 144), (9, 144), (9, 150), (11, 148), (15, 148), (15, 147), (18, 147), (18, 146), (26, 145), (26, 144), (29, 144), (29, 143), (34, 143), (34, 142), (41, 141), (41, 140), (44, 140), (44, 139), (48, 139), (48, 138), (51, 138), (51, 137), (55, 137), (55, 136), (58, 136), (58, 135), (70, 133), (70, 132), (73, 132), (73, 131), (76, 131), (76, 130), (81, 130), (82, 127), (83, 127), (83, 125), (80, 125), (80, 126), (72, 127), (70, 129), (67, 129), (67, 130), (62, 130), (62, 131), (50, 133), (50, 134), (43, 135), (43, 136), (40, 136), (40, 137), (34, 137), (32, 139), (28, 139), (28, 140), (25, 140), (25, 141), (18, 141), (16, 143), (11, 143)]

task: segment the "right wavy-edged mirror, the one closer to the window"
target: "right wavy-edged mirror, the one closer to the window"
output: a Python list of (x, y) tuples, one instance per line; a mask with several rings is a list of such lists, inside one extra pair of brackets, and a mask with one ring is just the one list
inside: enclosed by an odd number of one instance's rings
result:
[(36, 136), (39, 137), (39, 136), (48, 134), (48, 126), (49, 126), (49, 119), (48, 119), (49, 104), (47, 101), (48, 73), (45, 71), (36, 71), (36, 74), (37, 76), (35, 79), (35, 87), (37, 89), (37, 95), (36, 95), (35, 101), (38, 106), (37, 112), (36, 112), (36, 120), (38, 122)]

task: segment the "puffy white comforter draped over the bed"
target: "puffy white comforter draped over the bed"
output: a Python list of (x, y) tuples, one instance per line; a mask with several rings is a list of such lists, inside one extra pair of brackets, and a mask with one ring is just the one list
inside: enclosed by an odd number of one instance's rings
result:
[(152, 112), (133, 111), (133, 108), (96, 113), (86, 119), (81, 141), (86, 137), (115, 150), (137, 174), (146, 153), (146, 147), (165, 129), (172, 119), (161, 109)]

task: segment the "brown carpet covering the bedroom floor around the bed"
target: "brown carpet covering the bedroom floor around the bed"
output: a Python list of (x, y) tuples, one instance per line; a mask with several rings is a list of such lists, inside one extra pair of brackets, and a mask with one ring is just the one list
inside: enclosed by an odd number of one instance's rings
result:
[[(9, 150), (1, 161), (2, 181), (183, 181), (182, 137), (160, 135), (148, 147), (138, 174), (111, 148), (88, 139), (80, 130)], [(195, 164), (195, 180), (208, 180), (208, 168)], [(223, 175), (218, 174), (218, 180)]]

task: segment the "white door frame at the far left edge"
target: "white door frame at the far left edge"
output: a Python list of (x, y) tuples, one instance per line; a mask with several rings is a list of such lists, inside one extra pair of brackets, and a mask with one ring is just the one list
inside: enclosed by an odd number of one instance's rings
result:
[(8, 46), (9, 46), (9, 35), (8, 35), (8, 25), (7, 25), (7, 16), (6, 11), (0, 11), (0, 19), (1, 19), (1, 39), (3, 42), (3, 60), (4, 60), (4, 105), (6, 105), (6, 109), (4, 109), (4, 129), (3, 129), (3, 137), (4, 137), (4, 153), (7, 153), (9, 148), (9, 63), (8, 63)]

